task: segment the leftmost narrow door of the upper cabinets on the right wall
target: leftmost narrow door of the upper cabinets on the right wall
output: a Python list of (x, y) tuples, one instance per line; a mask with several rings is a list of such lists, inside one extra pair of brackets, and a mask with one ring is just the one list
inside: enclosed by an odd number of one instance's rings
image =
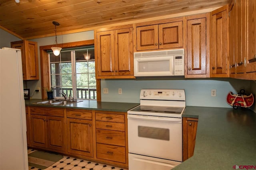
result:
[(236, 48), (236, 6), (234, 0), (232, 0), (229, 6), (230, 15), (230, 74), (236, 73), (236, 59), (237, 59), (237, 48)]

